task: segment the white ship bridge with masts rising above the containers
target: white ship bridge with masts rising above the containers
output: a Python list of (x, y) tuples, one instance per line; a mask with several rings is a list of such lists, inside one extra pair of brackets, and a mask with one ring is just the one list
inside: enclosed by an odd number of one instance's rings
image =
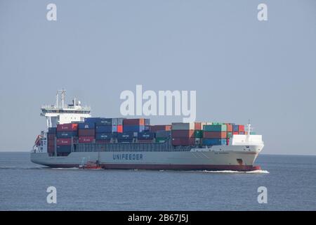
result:
[(83, 122), (84, 118), (91, 117), (91, 108), (81, 106), (81, 102), (76, 98), (72, 104), (65, 104), (65, 90), (57, 91), (55, 105), (42, 105), (41, 116), (46, 117), (47, 127), (57, 127), (57, 124), (70, 122)]

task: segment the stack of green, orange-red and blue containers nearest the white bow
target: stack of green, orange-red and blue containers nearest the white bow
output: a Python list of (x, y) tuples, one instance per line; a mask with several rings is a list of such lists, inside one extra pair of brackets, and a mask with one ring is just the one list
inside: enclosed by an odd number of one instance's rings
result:
[(203, 126), (202, 144), (206, 146), (221, 146), (227, 144), (227, 124), (213, 123)]

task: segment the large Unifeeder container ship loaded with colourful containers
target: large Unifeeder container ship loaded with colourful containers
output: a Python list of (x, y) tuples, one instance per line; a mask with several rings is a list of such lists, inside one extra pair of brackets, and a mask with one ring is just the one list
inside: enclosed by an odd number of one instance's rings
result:
[(150, 124), (146, 118), (91, 117), (76, 98), (41, 107), (46, 131), (37, 136), (31, 161), (47, 167), (254, 171), (262, 136), (247, 124), (174, 122)]

